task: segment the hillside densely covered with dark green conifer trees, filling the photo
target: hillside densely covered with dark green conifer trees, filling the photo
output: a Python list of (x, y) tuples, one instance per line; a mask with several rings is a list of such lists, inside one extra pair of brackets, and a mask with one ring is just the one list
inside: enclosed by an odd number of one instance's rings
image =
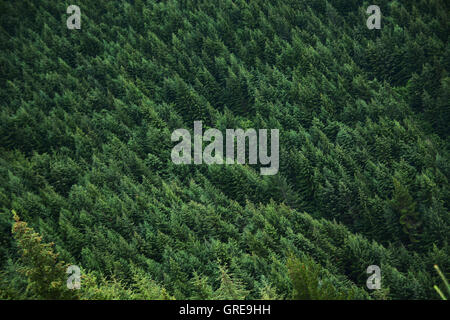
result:
[[(0, 0), (0, 298), (439, 299), (449, 12)], [(174, 164), (194, 121), (279, 129), (278, 174)]]

